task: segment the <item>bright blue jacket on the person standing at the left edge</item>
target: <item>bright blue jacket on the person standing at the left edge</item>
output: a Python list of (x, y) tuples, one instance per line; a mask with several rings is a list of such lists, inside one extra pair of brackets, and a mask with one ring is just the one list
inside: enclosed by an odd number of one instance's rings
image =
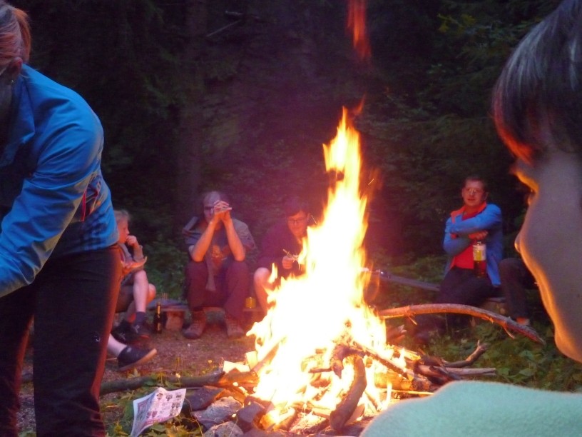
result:
[(8, 141), (0, 144), (0, 296), (32, 283), (51, 256), (118, 240), (97, 116), (29, 66), (13, 87)]

